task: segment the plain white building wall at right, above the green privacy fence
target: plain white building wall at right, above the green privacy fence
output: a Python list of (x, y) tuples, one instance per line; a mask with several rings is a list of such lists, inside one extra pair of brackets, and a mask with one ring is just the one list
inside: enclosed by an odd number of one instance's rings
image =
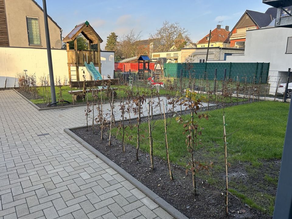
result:
[(244, 55), (227, 56), (226, 62), (269, 62), (270, 71), (292, 68), (292, 54), (285, 54), (292, 28), (274, 27), (246, 32)]

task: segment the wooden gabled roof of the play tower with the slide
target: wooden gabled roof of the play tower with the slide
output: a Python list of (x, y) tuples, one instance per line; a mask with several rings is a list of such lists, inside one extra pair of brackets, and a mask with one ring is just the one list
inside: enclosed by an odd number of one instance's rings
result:
[(75, 40), (80, 33), (87, 40), (89, 40), (91, 44), (97, 44), (98, 40), (100, 41), (100, 43), (103, 42), (100, 36), (92, 28), (92, 26), (90, 26), (88, 21), (76, 25), (75, 28), (63, 39), (63, 42), (66, 43)]

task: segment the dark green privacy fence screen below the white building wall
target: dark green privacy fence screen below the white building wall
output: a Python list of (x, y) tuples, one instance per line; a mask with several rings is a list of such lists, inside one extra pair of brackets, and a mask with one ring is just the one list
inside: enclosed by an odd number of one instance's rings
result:
[[(226, 68), (226, 78), (248, 83), (266, 83), (269, 75), (269, 63), (238, 63), (238, 62), (207, 62), (207, 63), (166, 63), (164, 64), (164, 76), (172, 78), (215, 78), (217, 68), (217, 79), (224, 78), (224, 68)], [(182, 71), (181, 71), (182, 69)]]

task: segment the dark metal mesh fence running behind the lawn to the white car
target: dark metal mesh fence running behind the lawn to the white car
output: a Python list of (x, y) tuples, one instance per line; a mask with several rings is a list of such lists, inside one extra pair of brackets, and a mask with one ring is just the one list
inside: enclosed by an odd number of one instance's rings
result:
[[(115, 78), (120, 78), (124, 85), (144, 86), (148, 84), (148, 78), (154, 77), (155, 82), (164, 82), (165, 88), (169, 89), (192, 89), (201, 93), (222, 93), (222, 89), (227, 89), (228, 93), (243, 96), (255, 96), (257, 98), (285, 99), (292, 92), (292, 75), (287, 71), (254, 71), (242, 69), (223, 69), (213, 72), (203, 70), (168, 71), (168, 77), (150, 72), (115, 72)], [(177, 75), (177, 77), (170, 77)], [(157, 78), (156, 78), (157, 77)], [(290, 84), (289, 84), (290, 83)], [(288, 92), (287, 92), (288, 91)]]

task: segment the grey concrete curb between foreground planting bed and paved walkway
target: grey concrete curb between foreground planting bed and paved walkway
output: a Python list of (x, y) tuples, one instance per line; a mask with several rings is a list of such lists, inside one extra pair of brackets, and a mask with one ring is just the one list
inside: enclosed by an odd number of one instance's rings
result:
[[(84, 126), (81, 126), (81, 127), (84, 127)], [(75, 128), (81, 128), (81, 127), (75, 127)], [(74, 129), (74, 128), (70, 128), (70, 129)], [(151, 189), (148, 189), (148, 187), (144, 186), (141, 182), (139, 182), (137, 179), (135, 179), (133, 176), (131, 176), (129, 173), (127, 173), (120, 166), (116, 165), (113, 161), (111, 161), (105, 155), (103, 155), (98, 150), (93, 148), (90, 144), (85, 142), (82, 138), (80, 138), (76, 134), (74, 134), (70, 129), (66, 128), (66, 129), (64, 129), (64, 132), (66, 132), (68, 135), (73, 137), (76, 141), (78, 141), (80, 144), (82, 144), (86, 149), (91, 151), (94, 155), (96, 155), (98, 158), (100, 158), (103, 162), (105, 162), (107, 165), (109, 165), (111, 168), (113, 168), (116, 172), (118, 172), (120, 175), (122, 175), (125, 179), (127, 179), (129, 182), (131, 182), (141, 192), (146, 194), (151, 200), (153, 200), (160, 207), (162, 207), (166, 212), (168, 212), (170, 215), (172, 215), (172, 217), (177, 218), (177, 219), (189, 219), (184, 214), (182, 214), (179, 210), (174, 208), (171, 204), (169, 204), (164, 199), (159, 197)]]

